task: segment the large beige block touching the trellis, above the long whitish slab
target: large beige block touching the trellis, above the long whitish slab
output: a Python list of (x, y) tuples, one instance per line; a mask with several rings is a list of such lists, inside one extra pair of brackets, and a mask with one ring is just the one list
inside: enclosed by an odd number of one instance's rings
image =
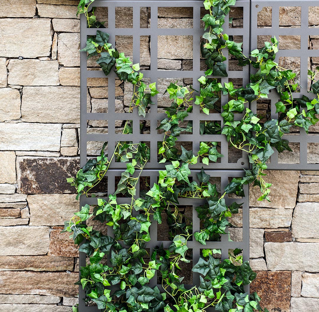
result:
[(22, 120), (44, 123), (80, 121), (79, 87), (23, 88)]

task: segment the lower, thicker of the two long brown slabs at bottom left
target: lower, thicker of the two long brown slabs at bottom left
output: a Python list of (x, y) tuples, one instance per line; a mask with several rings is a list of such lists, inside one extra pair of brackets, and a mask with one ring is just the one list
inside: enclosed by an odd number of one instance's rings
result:
[(77, 273), (64, 272), (0, 272), (2, 293), (36, 294), (47, 296), (75, 296), (78, 286)]

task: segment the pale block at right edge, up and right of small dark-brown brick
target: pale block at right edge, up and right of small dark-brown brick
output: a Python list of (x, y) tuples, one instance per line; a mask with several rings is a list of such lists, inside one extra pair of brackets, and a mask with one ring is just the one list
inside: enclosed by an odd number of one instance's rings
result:
[(319, 238), (317, 220), (319, 217), (319, 203), (297, 203), (293, 212), (291, 232), (293, 237)]

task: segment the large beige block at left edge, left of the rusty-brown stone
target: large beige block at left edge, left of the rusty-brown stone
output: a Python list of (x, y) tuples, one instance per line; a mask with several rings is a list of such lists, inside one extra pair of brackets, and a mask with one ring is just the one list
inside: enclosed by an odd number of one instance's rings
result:
[(44, 255), (49, 247), (47, 226), (0, 226), (0, 255)]

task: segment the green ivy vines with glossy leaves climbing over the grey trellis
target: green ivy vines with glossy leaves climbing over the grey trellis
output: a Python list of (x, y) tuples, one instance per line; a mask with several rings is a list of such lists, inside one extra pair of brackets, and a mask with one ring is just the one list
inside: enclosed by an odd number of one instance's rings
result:
[[(103, 23), (96, 20), (94, 8), (88, 10), (92, 2), (81, 0), (78, 13), (85, 14), (88, 27), (99, 28)], [(223, 261), (216, 257), (220, 250), (203, 249), (198, 263), (192, 269), (200, 273), (200, 285), (191, 289), (185, 288), (179, 273), (181, 263), (190, 262), (187, 242), (193, 236), (205, 245), (206, 241), (219, 240), (220, 234), (226, 234), (226, 227), (231, 225), (228, 217), (238, 213), (241, 204), (234, 202), (227, 206), (224, 196), (244, 196), (243, 185), (254, 183), (262, 192), (259, 200), (268, 200), (271, 184), (264, 181), (263, 170), (267, 169), (266, 162), (274, 149), (278, 152), (291, 150), (288, 141), (282, 139), (283, 134), (288, 133), (292, 126), (303, 127), (308, 133), (309, 126), (318, 121), (315, 114), (319, 114), (319, 97), (313, 101), (306, 96), (293, 99), (293, 91), (299, 88), (294, 80), (296, 74), (274, 62), (278, 52), (276, 38), (265, 42), (262, 49), (256, 49), (246, 57), (242, 53), (242, 43), (233, 42), (227, 34), (222, 34), (225, 17), (234, 4), (235, 0), (204, 1), (207, 14), (203, 21), (205, 31), (208, 31), (203, 35), (201, 52), (208, 69), (205, 76), (198, 79), (201, 88), (194, 103), (209, 114), (211, 109), (220, 110), (216, 105), (220, 92), (229, 96), (230, 100), (221, 111), (223, 127), (218, 123), (203, 121), (200, 133), (225, 134), (234, 148), (249, 154), (252, 169), (245, 170), (243, 178), (234, 178), (221, 195), (203, 168), (197, 174), (199, 183), (189, 180), (191, 166), (197, 163), (199, 157), (203, 164), (208, 165), (222, 155), (217, 151), (216, 142), (202, 142), (196, 155), (183, 147), (181, 152), (176, 148), (180, 133), (192, 131), (191, 122), (186, 129), (182, 123), (192, 111), (192, 94), (195, 90), (171, 83), (166, 92), (172, 103), (166, 108), (167, 118), (161, 120), (158, 127), (163, 132), (163, 141), (158, 145), (159, 159), (166, 166), (165, 170), (159, 171), (158, 182), (147, 191), (145, 197), (135, 197), (141, 172), (150, 158), (145, 143), (119, 142), (110, 158), (104, 153), (104, 144), (100, 156), (89, 160), (75, 178), (68, 179), (77, 190), (77, 199), (80, 195), (92, 196), (93, 188), (103, 179), (113, 159), (125, 162), (127, 166), (121, 174), (117, 190), (108, 195), (108, 200), (98, 199), (97, 205), (91, 207), (85, 205), (70, 221), (65, 222), (64, 231), (71, 233), (76, 244), (82, 243), (79, 250), (89, 257), (89, 263), (80, 268), (81, 279), (77, 283), (86, 291), (87, 304), (94, 302), (103, 311), (121, 312), (205, 312), (211, 306), (222, 312), (263, 311), (258, 295), (244, 292), (243, 286), (256, 278), (256, 273), (247, 261), (242, 261), (240, 249), (231, 251), (229, 259)], [(147, 86), (143, 82), (143, 74), (139, 72), (139, 65), (133, 65), (124, 53), (114, 49), (108, 38), (109, 34), (98, 30), (96, 36), (87, 39), (83, 51), (88, 53), (88, 57), (99, 56), (97, 63), (106, 75), (114, 70), (119, 79), (133, 84), (129, 111), (135, 108), (139, 115), (145, 116), (152, 105), (152, 96), (158, 93), (155, 83)], [(251, 64), (257, 69), (246, 87), (236, 89), (231, 82), (222, 85), (216, 78), (210, 78), (211, 75), (227, 77), (226, 57), (222, 52), (225, 48), (238, 60), (239, 65)], [(318, 72), (319, 68), (316, 70)], [(318, 95), (319, 82), (315, 80), (315, 75), (309, 71), (310, 79), (314, 81), (312, 91)], [(267, 98), (271, 89), (276, 89), (280, 96), (280, 101), (276, 103), (279, 117), (261, 123), (262, 117), (254, 114), (245, 104)], [(236, 113), (244, 113), (244, 117), (236, 120)], [(123, 133), (132, 133), (129, 120), (125, 123)], [(134, 175), (136, 170), (137, 176)], [(118, 194), (125, 195), (130, 201), (119, 203)], [(204, 205), (196, 208), (202, 224), (199, 232), (193, 233), (192, 224), (186, 221), (178, 208), (178, 199), (181, 197), (206, 200)], [(154, 221), (160, 224), (163, 214), (167, 215), (172, 244), (168, 248), (157, 246), (148, 255), (146, 242), (150, 240), (150, 225)], [(114, 235), (102, 235), (100, 231), (87, 226), (85, 221), (89, 218), (112, 227)], [(162, 285), (161, 291), (158, 287), (151, 288), (148, 285), (156, 275)], [(110, 285), (115, 285), (116, 290), (111, 291)], [(77, 308), (73, 307), (73, 310), (77, 311)]]

